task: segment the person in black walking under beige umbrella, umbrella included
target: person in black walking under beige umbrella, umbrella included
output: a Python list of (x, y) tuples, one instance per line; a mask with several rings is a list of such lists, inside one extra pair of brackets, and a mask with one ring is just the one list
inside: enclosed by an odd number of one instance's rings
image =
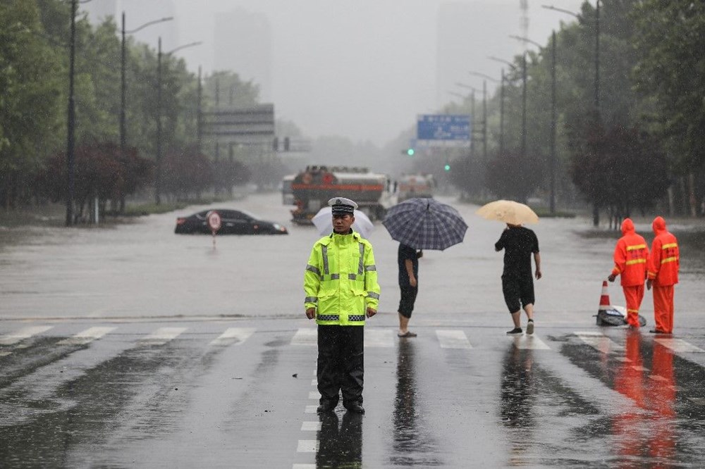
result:
[(538, 223), (539, 217), (529, 206), (508, 200), (490, 202), (479, 208), (476, 213), (488, 220), (498, 220), (507, 225), (499, 241), (494, 244), (495, 251), (504, 249), (502, 293), (514, 322), (514, 328), (507, 331), (507, 334), (519, 335), (524, 332), (521, 327), (522, 308), (527, 315), (527, 334), (533, 334), (535, 298), (531, 256), (534, 254), (534, 276), (539, 280), (541, 255), (536, 233), (522, 225)]

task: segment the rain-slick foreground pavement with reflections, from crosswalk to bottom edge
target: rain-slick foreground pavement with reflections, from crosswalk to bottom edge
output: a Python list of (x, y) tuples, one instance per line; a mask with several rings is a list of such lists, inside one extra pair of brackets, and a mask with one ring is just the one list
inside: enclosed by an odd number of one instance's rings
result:
[(85, 326), (0, 323), (0, 466), (705, 463), (699, 338), (369, 326), (367, 413), (312, 415), (305, 320)]

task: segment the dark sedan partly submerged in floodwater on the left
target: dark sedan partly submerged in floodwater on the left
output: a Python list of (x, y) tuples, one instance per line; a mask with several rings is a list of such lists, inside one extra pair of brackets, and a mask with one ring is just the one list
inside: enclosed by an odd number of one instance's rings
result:
[(220, 215), (218, 235), (288, 235), (286, 227), (279, 223), (262, 220), (257, 215), (247, 211), (233, 210), (231, 208), (204, 210), (189, 217), (179, 217), (176, 219), (176, 230), (174, 232), (177, 235), (188, 235), (190, 233), (210, 235), (211, 228), (207, 215), (212, 211)]

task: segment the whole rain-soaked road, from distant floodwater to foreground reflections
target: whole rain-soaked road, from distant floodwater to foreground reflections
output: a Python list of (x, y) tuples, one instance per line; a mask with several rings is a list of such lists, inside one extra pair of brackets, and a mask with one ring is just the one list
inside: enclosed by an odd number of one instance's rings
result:
[[(221, 206), (287, 222), (278, 201)], [(312, 228), (214, 249), (173, 235), (193, 207), (0, 230), (0, 467), (703, 466), (701, 225), (673, 224), (684, 254), (668, 338), (596, 327), (617, 236), (541, 220), (537, 331), (514, 338), (492, 249), (502, 227), (457, 207), (470, 230), (420, 260), (414, 339), (396, 337), (397, 243), (381, 225), (370, 237), (382, 296), (362, 416), (314, 413)], [(650, 242), (649, 222), (637, 230)], [(647, 293), (646, 329), (652, 314)]]

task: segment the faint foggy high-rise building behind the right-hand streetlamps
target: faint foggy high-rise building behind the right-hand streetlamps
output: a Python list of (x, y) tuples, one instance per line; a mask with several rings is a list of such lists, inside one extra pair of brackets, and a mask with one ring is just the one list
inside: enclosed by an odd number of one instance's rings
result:
[[(451, 91), (470, 94), (469, 89), (458, 87), (458, 82), (482, 89), (482, 78), (473, 77), (468, 73), (470, 70), (496, 76), (499, 80), (500, 69), (507, 70), (508, 65), (487, 57), (496, 56), (511, 62), (523, 48), (520, 42), (514, 45), (505, 40), (508, 35), (522, 35), (522, 11), (518, 6), (489, 0), (441, 4), (436, 54), (437, 104), (442, 106), (451, 101)], [(496, 86), (488, 82), (488, 94)], [(482, 99), (482, 96), (476, 94), (475, 98)]]

